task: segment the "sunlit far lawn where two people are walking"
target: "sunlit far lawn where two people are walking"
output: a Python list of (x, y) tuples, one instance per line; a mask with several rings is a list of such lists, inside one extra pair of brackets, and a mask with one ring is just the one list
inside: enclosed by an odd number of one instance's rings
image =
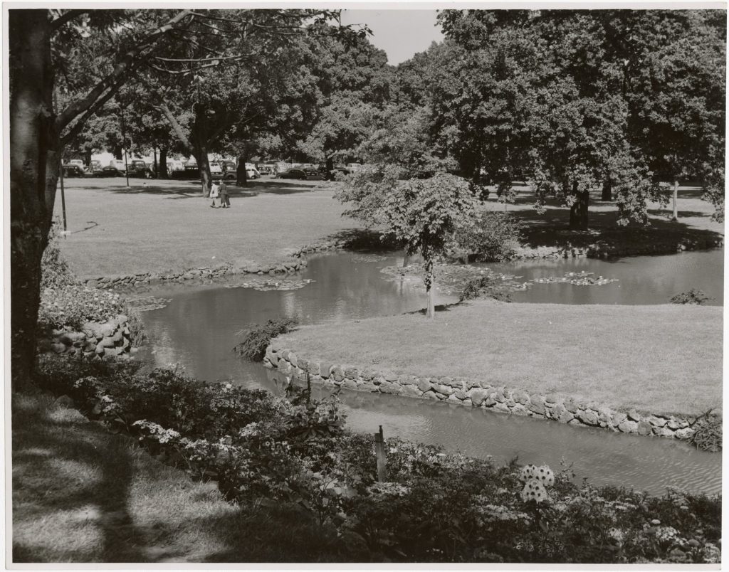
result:
[[(146, 184), (145, 184), (146, 183)], [(361, 225), (341, 216), (321, 181), (229, 184), (231, 208), (210, 208), (195, 181), (66, 179), (69, 235), (61, 251), (81, 278), (163, 273), (231, 262), (276, 262)], [(55, 215), (61, 219), (61, 192)]]

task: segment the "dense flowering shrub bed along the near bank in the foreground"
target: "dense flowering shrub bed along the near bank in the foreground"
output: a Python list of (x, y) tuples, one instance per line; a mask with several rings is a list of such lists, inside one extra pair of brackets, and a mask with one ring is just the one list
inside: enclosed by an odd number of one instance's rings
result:
[[(718, 496), (576, 485), (569, 469), (496, 466), (394, 438), (387, 482), (378, 482), (373, 436), (344, 431), (336, 397), (276, 397), (201, 383), (181, 369), (98, 367), (74, 379), (69, 364), (45, 359), (44, 385), (70, 392), (87, 415), (130, 431), (160, 460), (215, 479), (243, 510), (298, 506), (353, 560), (720, 561)], [(529, 486), (539, 494), (525, 493)]]

